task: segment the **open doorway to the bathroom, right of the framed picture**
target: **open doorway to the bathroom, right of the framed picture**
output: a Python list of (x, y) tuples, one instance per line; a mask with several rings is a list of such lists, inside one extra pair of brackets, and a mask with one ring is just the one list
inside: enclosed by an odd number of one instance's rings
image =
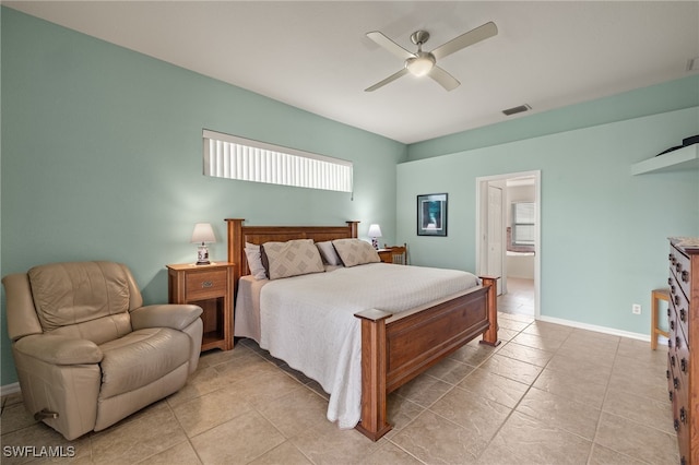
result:
[(541, 171), (476, 178), (476, 269), (505, 311), (540, 317), (541, 250)]

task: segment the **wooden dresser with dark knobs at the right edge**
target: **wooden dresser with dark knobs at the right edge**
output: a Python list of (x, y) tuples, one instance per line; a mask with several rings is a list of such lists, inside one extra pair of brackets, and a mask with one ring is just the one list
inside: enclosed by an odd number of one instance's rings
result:
[(699, 238), (670, 242), (667, 383), (680, 464), (699, 465)]

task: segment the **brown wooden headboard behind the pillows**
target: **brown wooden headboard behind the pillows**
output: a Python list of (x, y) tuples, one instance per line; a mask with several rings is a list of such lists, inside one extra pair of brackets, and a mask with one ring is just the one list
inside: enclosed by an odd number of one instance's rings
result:
[(292, 239), (313, 239), (322, 242), (333, 239), (357, 237), (359, 222), (346, 222), (346, 226), (244, 226), (241, 218), (226, 218), (228, 230), (228, 262), (235, 263), (234, 286), (238, 278), (250, 274), (245, 255), (246, 242), (262, 245), (264, 242), (285, 242)]

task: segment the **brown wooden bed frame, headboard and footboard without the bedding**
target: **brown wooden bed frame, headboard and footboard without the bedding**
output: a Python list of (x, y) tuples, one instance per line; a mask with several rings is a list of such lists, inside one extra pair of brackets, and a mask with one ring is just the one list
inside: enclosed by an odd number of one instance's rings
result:
[[(226, 223), (237, 293), (240, 276), (250, 274), (246, 242), (356, 238), (359, 222), (347, 222), (346, 226), (244, 226), (244, 219), (227, 218)], [(482, 286), (396, 315), (381, 310), (355, 314), (362, 320), (362, 420), (357, 430), (377, 441), (391, 430), (387, 418), (390, 392), (481, 334), (482, 344), (499, 344), (497, 277), (481, 279)]]

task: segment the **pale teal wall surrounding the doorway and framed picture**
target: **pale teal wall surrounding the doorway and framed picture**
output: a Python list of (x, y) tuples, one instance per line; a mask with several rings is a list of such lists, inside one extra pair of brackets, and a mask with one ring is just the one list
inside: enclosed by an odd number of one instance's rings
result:
[[(694, 107), (400, 164), (396, 240), (413, 264), (473, 271), (476, 178), (541, 170), (542, 317), (649, 334), (666, 238), (699, 236), (699, 170), (630, 168), (698, 133)], [(415, 234), (416, 195), (431, 192), (449, 193), (447, 238)]]

